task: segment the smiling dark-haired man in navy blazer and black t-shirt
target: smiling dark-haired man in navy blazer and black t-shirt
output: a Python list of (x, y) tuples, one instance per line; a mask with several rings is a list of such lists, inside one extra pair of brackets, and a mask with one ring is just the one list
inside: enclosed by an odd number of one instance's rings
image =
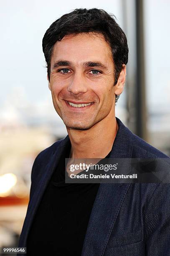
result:
[(66, 184), (65, 158), (166, 158), (115, 117), (127, 38), (104, 10), (76, 9), (43, 37), (68, 136), (36, 157), (19, 246), (27, 255), (170, 255), (169, 184)]

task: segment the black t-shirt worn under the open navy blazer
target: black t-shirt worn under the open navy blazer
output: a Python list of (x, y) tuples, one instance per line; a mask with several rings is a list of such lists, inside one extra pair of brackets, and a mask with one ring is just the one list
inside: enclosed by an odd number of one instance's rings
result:
[[(43, 194), (27, 239), (27, 255), (81, 256), (100, 184), (65, 183), (65, 149)], [(109, 154), (106, 158), (109, 157)]]

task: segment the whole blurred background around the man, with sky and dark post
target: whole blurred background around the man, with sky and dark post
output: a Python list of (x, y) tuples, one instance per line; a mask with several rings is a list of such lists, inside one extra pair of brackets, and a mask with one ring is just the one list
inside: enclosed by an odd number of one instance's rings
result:
[(42, 51), (44, 33), (61, 15), (101, 8), (116, 16), (129, 46), (116, 116), (170, 156), (170, 1), (85, 2), (0, 2), (0, 247), (18, 245), (34, 159), (67, 134), (53, 108)]

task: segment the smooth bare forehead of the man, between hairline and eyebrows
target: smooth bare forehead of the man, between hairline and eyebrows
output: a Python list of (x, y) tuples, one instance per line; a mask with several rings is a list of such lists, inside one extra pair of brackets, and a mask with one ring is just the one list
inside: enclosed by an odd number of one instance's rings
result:
[(59, 59), (67, 59), (77, 65), (87, 60), (97, 60), (107, 65), (112, 63), (112, 52), (102, 34), (81, 33), (57, 41), (51, 63)]

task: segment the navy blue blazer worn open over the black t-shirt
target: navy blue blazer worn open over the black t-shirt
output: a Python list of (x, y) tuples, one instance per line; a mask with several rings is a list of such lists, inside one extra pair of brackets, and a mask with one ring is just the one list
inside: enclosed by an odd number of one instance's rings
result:
[[(111, 158), (167, 158), (129, 131), (118, 118), (117, 123)], [(20, 247), (27, 246), (34, 215), (67, 143), (68, 135), (43, 150), (34, 161)], [(100, 184), (81, 256), (111, 255), (170, 256), (170, 184)]]

